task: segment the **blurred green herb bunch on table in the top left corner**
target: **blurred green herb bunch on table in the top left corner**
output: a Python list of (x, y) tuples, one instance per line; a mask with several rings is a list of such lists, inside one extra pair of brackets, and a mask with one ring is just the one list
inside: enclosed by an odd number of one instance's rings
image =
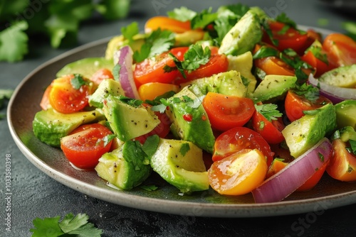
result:
[(73, 45), (80, 23), (95, 11), (114, 20), (127, 16), (129, 8), (130, 0), (0, 1), (0, 61), (23, 60), (30, 35), (48, 39), (53, 48)]

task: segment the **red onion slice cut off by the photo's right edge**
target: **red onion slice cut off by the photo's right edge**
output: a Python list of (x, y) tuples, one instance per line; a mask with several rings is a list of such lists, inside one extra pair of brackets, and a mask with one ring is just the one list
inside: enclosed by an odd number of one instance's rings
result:
[(356, 89), (335, 87), (325, 82), (319, 82), (313, 75), (309, 75), (308, 82), (313, 86), (320, 86), (320, 94), (330, 99), (333, 104), (337, 104), (345, 99), (356, 99)]

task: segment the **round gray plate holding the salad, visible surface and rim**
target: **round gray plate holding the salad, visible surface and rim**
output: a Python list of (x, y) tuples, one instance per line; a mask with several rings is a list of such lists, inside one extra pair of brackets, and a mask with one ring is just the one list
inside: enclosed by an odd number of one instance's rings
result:
[[(322, 31), (322, 30), (320, 30)], [(325, 31), (324, 31), (325, 32)], [(179, 190), (153, 174), (147, 184), (159, 189), (147, 192), (136, 188), (119, 191), (108, 187), (95, 171), (73, 169), (60, 149), (41, 143), (32, 131), (33, 116), (40, 111), (44, 89), (64, 65), (83, 57), (104, 55), (108, 38), (68, 51), (36, 68), (23, 79), (9, 101), (8, 123), (11, 136), (23, 155), (48, 176), (91, 197), (136, 209), (167, 214), (214, 217), (256, 217), (298, 214), (356, 203), (356, 183), (333, 180), (324, 175), (309, 192), (295, 192), (283, 202), (255, 204), (251, 194), (239, 197), (222, 196), (209, 190), (192, 195), (179, 195)]]

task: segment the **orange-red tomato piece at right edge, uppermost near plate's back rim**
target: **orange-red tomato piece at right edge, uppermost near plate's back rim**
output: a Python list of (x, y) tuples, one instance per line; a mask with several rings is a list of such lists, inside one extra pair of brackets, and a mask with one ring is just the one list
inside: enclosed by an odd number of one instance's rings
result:
[(329, 34), (323, 41), (323, 49), (338, 67), (356, 63), (356, 42), (347, 35)]

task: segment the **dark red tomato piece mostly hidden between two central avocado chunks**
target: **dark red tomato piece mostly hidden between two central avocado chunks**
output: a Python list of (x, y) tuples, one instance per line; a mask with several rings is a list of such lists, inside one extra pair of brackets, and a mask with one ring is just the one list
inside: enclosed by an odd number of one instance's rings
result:
[[(143, 105), (150, 106), (149, 104)], [(170, 131), (171, 121), (169, 120), (167, 114), (161, 114), (159, 111), (155, 111), (155, 114), (158, 116), (159, 121), (161, 122), (155, 127), (155, 129), (150, 131), (150, 133), (135, 138), (135, 140), (138, 140), (141, 144), (145, 143), (146, 139), (152, 135), (158, 135), (160, 138), (165, 138)]]

